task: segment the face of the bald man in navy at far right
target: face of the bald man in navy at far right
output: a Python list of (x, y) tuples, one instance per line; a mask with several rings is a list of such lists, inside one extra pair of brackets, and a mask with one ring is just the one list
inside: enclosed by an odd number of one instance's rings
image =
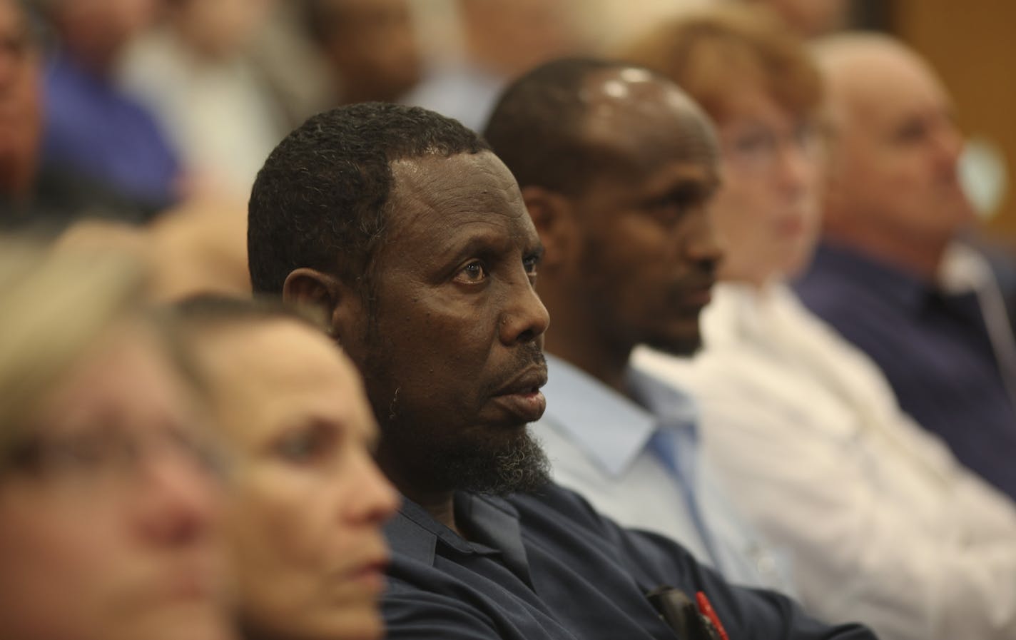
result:
[(896, 50), (859, 55), (830, 80), (828, 223), (881, 243), (948, 242), (973, 211), (960, 189), (962, 136), (942, 85)]

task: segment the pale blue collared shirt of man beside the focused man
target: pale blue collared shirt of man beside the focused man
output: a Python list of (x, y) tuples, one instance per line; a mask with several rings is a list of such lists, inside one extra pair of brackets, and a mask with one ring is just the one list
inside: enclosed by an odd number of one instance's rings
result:
[(702, 455), (691, 398), (629, 372), (639, 404), (558, 358), (547, 361), (547, 411), (533, 433), (555, 481), (625, 526), (678, 540), (732, 582), (792, 594), (789, 570), (736, 513)]

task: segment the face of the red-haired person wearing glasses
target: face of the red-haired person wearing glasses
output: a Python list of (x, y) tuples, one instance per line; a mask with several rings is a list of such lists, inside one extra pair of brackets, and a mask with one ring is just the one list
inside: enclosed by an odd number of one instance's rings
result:
[(723, 186), (713, 205), (724, 241), (722, 279), (792, 276), (818, 233), (822, 154), (815, 122), (746, 86), (718, 123)]

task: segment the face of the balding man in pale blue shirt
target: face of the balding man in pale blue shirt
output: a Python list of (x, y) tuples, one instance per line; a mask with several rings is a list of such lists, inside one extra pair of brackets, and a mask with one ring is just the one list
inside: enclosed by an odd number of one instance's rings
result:
[(641, 70), (589, 85), (587, 143), (613, 169), (570, 199), (581, 247), (568, 275), (574, 302), (625, 353), (639, 342), (693, 351), (721, 255), (709, 212), (713, 133), (683, 93)]

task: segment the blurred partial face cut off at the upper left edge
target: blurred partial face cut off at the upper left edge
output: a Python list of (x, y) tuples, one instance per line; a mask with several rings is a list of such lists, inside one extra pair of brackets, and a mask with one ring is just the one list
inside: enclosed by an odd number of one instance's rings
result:
[(36, 173), (42, 121), (39, 52), (13, 0), (0, 0), (0, 193), (21, 195)]

